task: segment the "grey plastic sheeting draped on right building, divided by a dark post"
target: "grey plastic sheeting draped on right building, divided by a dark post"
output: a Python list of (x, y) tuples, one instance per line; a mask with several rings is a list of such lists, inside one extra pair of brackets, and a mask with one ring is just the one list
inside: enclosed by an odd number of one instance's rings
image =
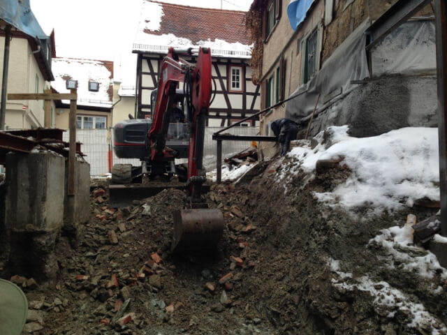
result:
[[(287, 103), (286, 117), (298, 121), (314, 110), (316, 98), (321, 92), (317, 110), (330, 105), (331, 99), (345, 96), (358, 87), (351, 80), (369, 77), (366, 57), (366, 34), (369, 22), (360, 27), (325, 61), (321, 70), (309, 81), (295, 90), (309, 91)], [(372, 50), (372, 73), (374, 77), (389, 74), (411, 74), (436, 69), (436, 43), (434, 23), (416, 20), (402, 24)]]

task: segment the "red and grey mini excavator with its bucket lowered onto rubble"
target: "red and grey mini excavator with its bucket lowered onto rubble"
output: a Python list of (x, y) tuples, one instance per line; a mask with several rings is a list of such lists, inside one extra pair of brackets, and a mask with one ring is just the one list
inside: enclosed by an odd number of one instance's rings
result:
[[(197, 55), (196, 64), (181, 58)], [(129, 183), (144, 175), (149, 179), (177, 175), (185, 181), (184, 209), (173, 212), (174, 233), (171, 251), (215, 249), (223, 232), (219, 209), (208, 208), (202, 194), (205, 182), (203, 147), (205, 121), (212, 95), (211, 50), (199, 47), (179, 50), (170, 47), (164, 57), (159, 84), (152, 92), (152, 119), (129, 119), (115, 126), (114, 150), (119, 158), (139, 158), (141, 166), (117, 165), (112, 182)], [(168, 141), (173, 104), (183, 101), (189, 141)], [(182, 139), (180, 139), (182, 140)], [(167, 144), (173, 143), (174, 145)], [(186, 171), (175, 165), (175, 158), (188, 158)], [(150, 184), (150, 181), (149, 181)]]

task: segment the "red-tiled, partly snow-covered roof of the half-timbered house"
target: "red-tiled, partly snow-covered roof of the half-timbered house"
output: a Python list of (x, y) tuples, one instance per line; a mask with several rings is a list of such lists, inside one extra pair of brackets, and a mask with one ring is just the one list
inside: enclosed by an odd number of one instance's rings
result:
[(133, 52), (166, 54), (173, 47), (210, 47), (213, 56), (251, 58), (245, 12), (143, 0)]

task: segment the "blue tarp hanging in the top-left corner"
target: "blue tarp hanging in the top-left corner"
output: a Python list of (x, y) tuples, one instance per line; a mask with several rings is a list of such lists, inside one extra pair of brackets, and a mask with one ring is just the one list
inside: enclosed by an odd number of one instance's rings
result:
[(41, 40), (48, 38), (29, 7), (29, 0), (1, 0), (0, 19), (29, 36), (37, 37)]

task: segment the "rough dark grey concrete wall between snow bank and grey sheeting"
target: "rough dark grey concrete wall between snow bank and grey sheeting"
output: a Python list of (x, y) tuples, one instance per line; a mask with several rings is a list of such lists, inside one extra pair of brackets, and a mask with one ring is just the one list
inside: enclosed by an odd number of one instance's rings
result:
[(349, 124), (355, 137), (380, 135), (408, 126), (437, 127), (437, 78), (387, 76), (363, 84), (343, 101), (318, 114), (311, 135)]

